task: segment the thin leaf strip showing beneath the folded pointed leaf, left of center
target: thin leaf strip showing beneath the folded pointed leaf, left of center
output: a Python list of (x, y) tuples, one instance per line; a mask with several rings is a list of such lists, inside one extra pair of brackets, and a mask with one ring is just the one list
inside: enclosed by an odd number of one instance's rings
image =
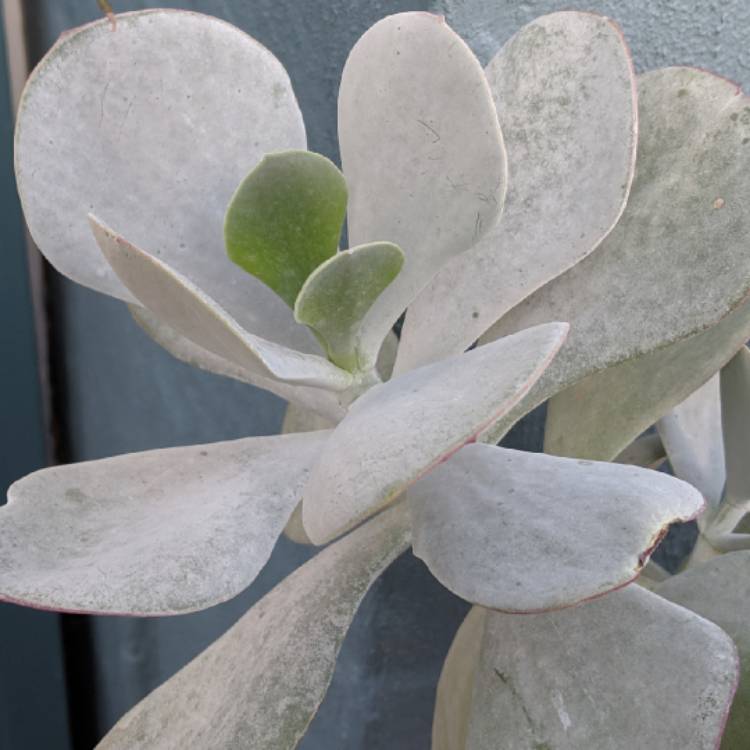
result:
[(133, 319), (143, 331), (181, 362), (200, 370), (258, 386), (275, 393), (285, 401), (297, 404), (316, 414), (325, 415), (328, 419), (336, 422), (346, 413), (336, 394), (331, 391), (323, 388), (290, 385), (256, 375), (193, 343), (190, 339), (177, 333), (174, 328), (170, 328), (166, 323), (160, 321), (145, 307), (140, 307), (140, 305), (128, 305), (128, 307)]

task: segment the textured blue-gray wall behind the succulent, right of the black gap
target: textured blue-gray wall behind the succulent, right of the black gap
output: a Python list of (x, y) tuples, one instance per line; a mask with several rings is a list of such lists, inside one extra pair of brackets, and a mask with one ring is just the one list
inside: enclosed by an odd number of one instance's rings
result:
[[(114, 2), (117, 10), (157, 3)], [(483, 60), (525, 21), (569, 2), (501, 0), (248, 0), (160, 2), (224, 17), (267, 45), (290, 73), (308, 126), (310, 148), (334, 159), (336, 90), (345, 55), (386, 13), (444, 13)], [(714, 68), (750, 80), (750, 4), (599, 2), (624, 26), (639, 68), (669, 62)], [(39, 55), (63, 29), (96, 16), (94, 0), (26, 3), (32, 49)], [(282, 404), (268, 394), (181, 365), (151, 343), (118, 303), (55, 278), (56, 396), (64, 409), (67, 460), (278, 430)], [(540, 421), (510, 440), (538, 447)], [(306, 559), (280, 542), (259, 580), (243, 595), (197, 615), (159, 620), (97, 618), (92, 686), (106, 730), (141, 695), (172, 674), (245, 609)], [(344, 645), (324, 706), (304, 742), (313, 748), (419, 750), (429, 747), (434, 685), (465, 605), (407, 554), (375, 585)]]

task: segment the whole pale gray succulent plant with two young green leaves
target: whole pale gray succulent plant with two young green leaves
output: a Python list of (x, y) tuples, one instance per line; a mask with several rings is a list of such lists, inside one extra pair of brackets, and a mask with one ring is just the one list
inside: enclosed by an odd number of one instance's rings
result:
[[(663, 596), (627, 584), (704, 494), (703, 544), (727, 551), (721, 518), (744, 548), (746, 409), (724, 417), (723, 503), (716, 430), (696, 442), (684, 415), (715, 428), (703, 394), (730, 360), (722, 388), (747, 400), (750, 101), (697, 69), (636, 78), (594, 14), (534, 21), (484, 71), (443, 19), (403, 13), (349, 55), (339, 171), (305, 150), (253, 39), (189, 12), (115, 20), (65, 35), (27, 84), (32, 235), (176, 357), (288, 400), (287, 434), (21, 479), (0, 597), (177, 615), (243, 590), (285, 528), (331, 544), (101, 747), (295, 747), (359, 602), (410, 545), (475, 605), (436, 750), (716, 747), (747, 584), (723, 589), (724, 620), (700, 592), (748, 553), (698, 550), (652, 581)], [(547, 400), (546, 453), (495, 445)], [(639, 438), (657, 421), (663, 446)], [(645, 468), (662, 447), (698, 489)], [(713, 451), (708, 470), (691, 450)]]

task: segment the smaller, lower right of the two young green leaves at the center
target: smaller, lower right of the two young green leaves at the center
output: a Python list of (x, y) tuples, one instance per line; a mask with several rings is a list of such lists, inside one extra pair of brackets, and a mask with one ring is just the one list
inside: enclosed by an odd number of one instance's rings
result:
[(317, 333), (331, 362), (347, 370), (360, 369), (362, 320), (403, 263), (397, 245), (373, 242), (337, 253), (307, 279), (295, 302), (294, 317)]

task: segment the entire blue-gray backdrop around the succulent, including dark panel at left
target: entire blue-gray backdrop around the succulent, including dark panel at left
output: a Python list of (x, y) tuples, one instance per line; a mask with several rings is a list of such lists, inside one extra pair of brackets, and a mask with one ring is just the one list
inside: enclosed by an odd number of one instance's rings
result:
[[(533, 17), (571, 7), (553, 0), (193, 0), (126, 2), (116, 10), (183, 7), (223, 17), (269, 47), (289, 71), (309, 147), (338, 159), (336, 92), (346, 54), (382, 16), (401, 10), (443, 13), (486, 62)], [(617, 19), (643, 70), (667, 64), (710, 68), (750, 84), (750, 4), (603, 0), (581, 3)], [(95, 0), (27, 0), (32, 62), (66, 28), (97, 17)], [(3, 79), (2, 84), (5, 84)], [(0, 372), (3, 432), (0, 481), (7, 485), (44, 461), (42, 416), (23, 268), (23, 240), (12, 193), (10, 120), (2, 96), (3, 252)], [(126, 451), (277, 432), (283, 404), (273, 396), (201, 373), (170, 358), (121, 304), (49, 274), (53, 405), (60, 458), (80, 461)], [(2, 327), (0, 327), (2, 328)], [(7, 338), (7, 340), (6, 340)], [(538, 449), (540, 418), (511, 439)], [(247, 607), (308, 557), (282, 540), (258, 581), (232, 602), (180, 618), (65, 618), (0, 607), (0, 747), (88, 748), (148, 690), (223, 632)], [(407, 553), (373, 587), (342, 651), (331, 690), (303, 742), (305, 750), (429, 747), (434, 687), (465, 605)], [(63, 656), (62, 632), (68, 646)], [(75, 717), (70, 738), (65, 675)], [(83, 717), (88, 717), (84, 719)]]

